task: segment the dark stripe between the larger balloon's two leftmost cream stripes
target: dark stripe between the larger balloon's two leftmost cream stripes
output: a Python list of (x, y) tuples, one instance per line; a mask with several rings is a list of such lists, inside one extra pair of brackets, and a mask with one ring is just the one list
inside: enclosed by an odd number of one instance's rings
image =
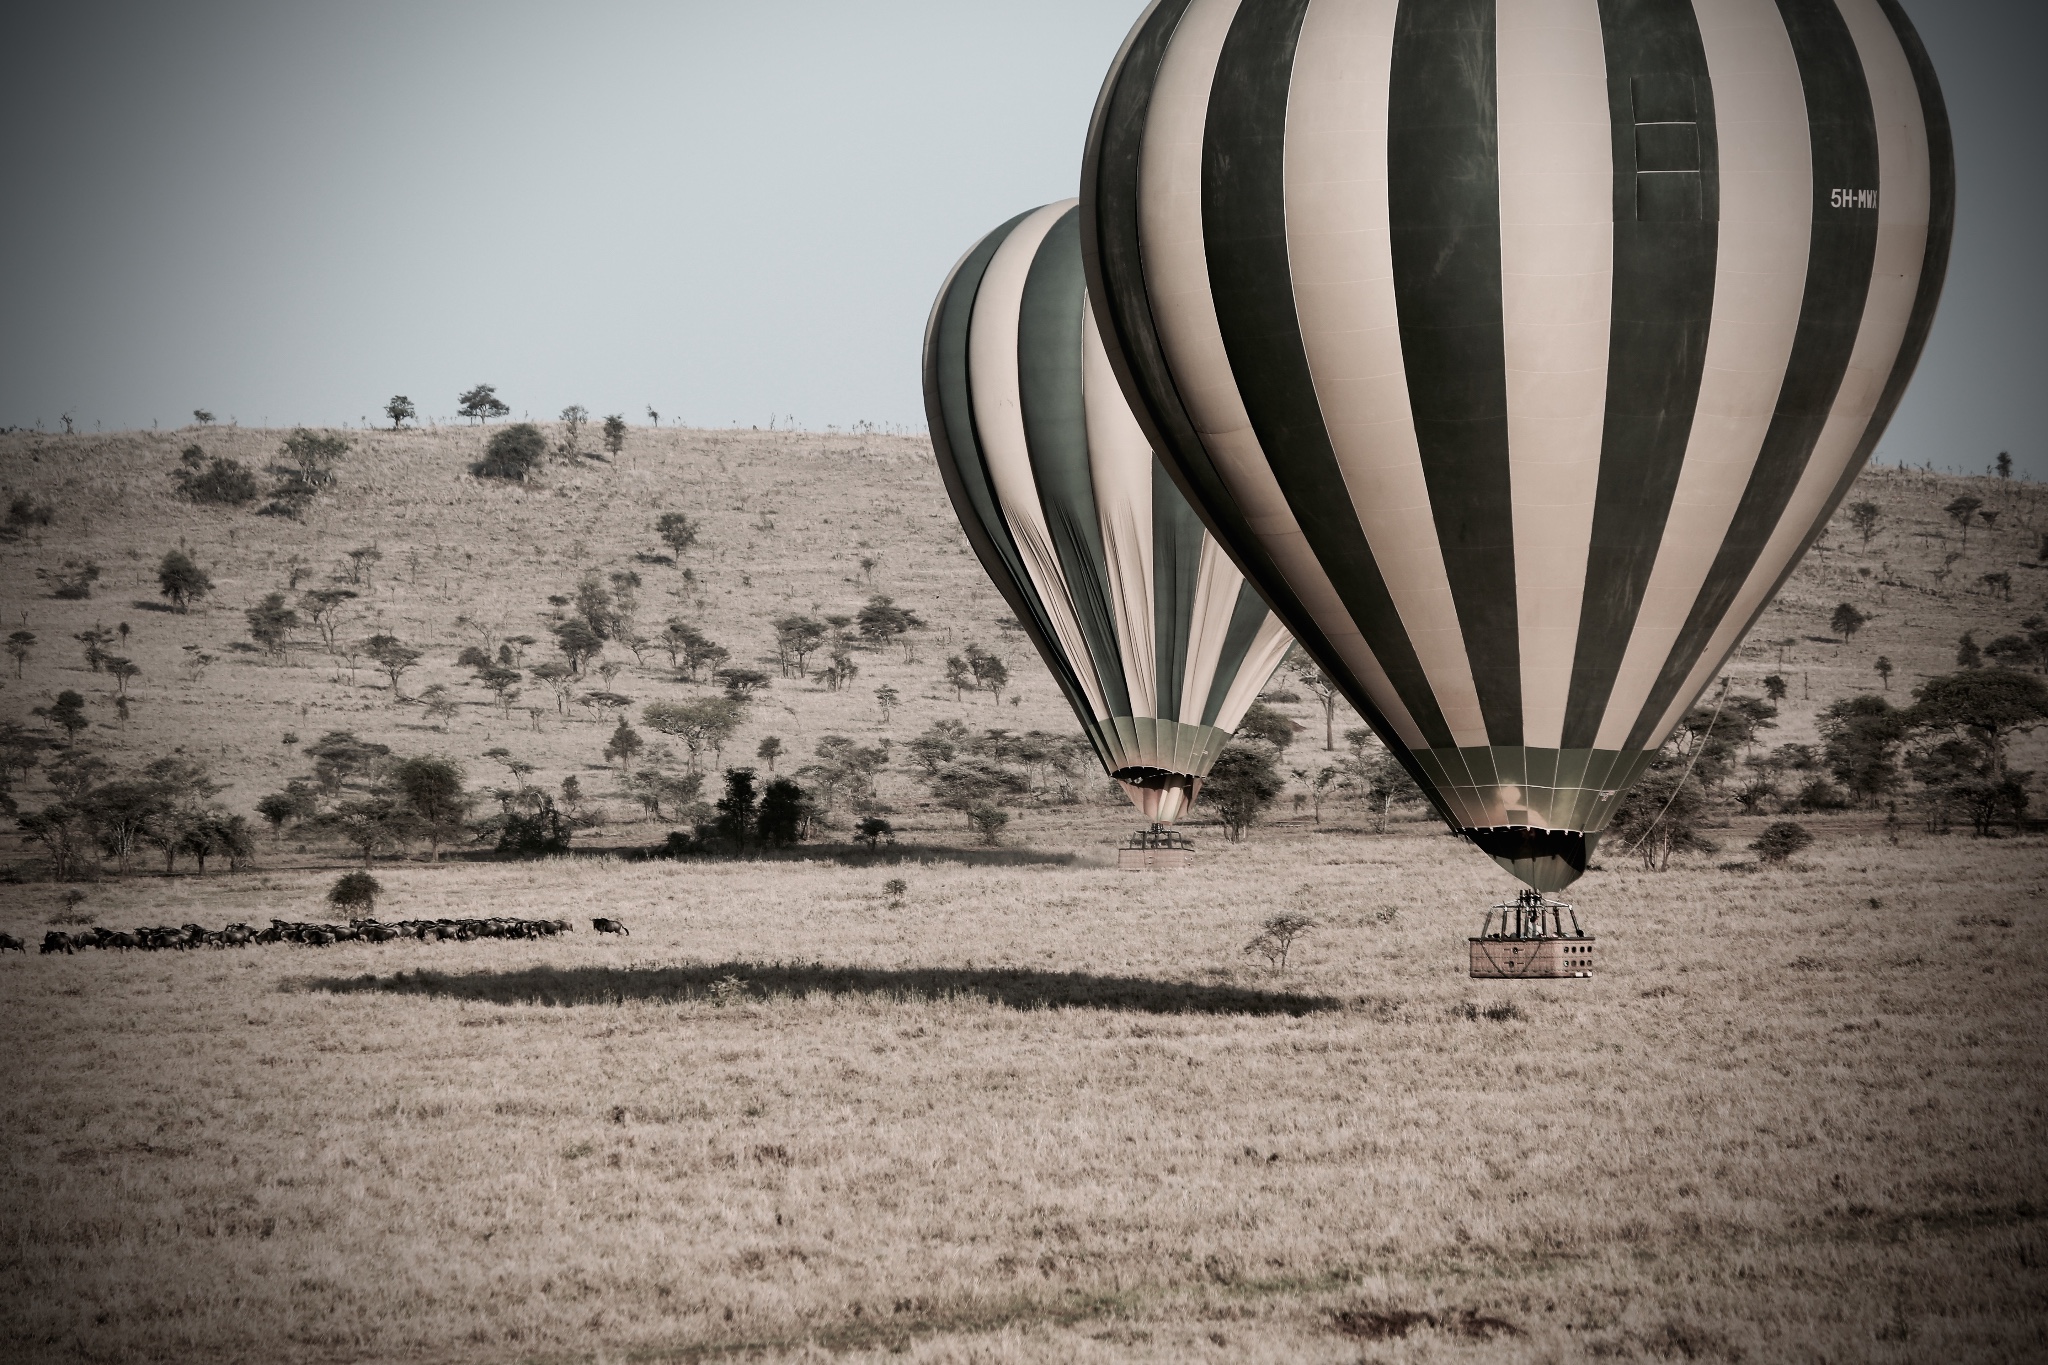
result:
[(1352, 510), (1294, 313), (1282, 141), (1307, 8), (1309, 0), (1245, 4), (1223, 43), (1202, 139), (1208, 282), (1237, 393), (1311, 553), (1425, 741), (1448, 745), (1450, 726)]

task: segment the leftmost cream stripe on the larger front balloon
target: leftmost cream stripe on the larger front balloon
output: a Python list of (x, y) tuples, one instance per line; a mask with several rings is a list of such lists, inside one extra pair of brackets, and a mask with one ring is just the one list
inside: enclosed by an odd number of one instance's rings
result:
[(1202, 250), (1202, 129), (1208, 123), (1208, 88), (1217, 55), (1237, 14), (1239, 0), (1194, 0), (1174, 31), (1139, 164), (1139, 235), (1145, 248), (1145, 287), (1159, 344), (1208, 458), (1251, 532), (1272, 557), (1286, 585), (1323, 628), (1331, 649), (1386, 716), (1403, 743), (1419, 747), (1421, 729), (1401, 704), (1386, 671), (1315, 561), (1266, 465), (1251, 420), (1237, 397), (1237, 379), (1217, 329)]

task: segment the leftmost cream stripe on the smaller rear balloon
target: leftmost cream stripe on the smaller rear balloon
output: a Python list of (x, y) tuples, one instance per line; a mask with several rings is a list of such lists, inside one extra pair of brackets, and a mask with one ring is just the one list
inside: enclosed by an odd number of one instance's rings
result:
[(1096, 677), (1087, 653), (1087, 636), (1073, 610), (1073, 593), (1059, 569), (1053, 536), (1047, 532), (1038, 483), (1030, 471), (1030, 450), (1024, 444), (1024, 407), (1018, 395), (1018, 315), (1024, 307), (1024, 280), (1038, 256), (1047, 231), (1071, 203), (1047, 205), (1018, 223), (989, 258), (987, 274), (975, 295), (975, 315), (967, 334), (967, 381), (975, 401), (975, 430), (989, 463), (995, 501), (1004, 510), (1010, 534), (1018, 542), (1024, 571), (1038, 589), (1053, 634), (1087, 692), (1096, 716), (1108, 716), (1102, 679)]

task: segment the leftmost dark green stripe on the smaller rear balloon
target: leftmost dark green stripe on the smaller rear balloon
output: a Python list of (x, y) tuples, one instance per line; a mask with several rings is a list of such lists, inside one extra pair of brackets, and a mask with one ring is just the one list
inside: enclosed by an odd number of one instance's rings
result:
[(975, 295), (981, 293), (981, 278), (987, 274), (989, 260), (1026, 217), (1030, 215), (1020, 213), (983, 237), (958, 264), (952, 280), (932, 307), (932, 321), (926, 327), (924, 340), (924, 411), (932, 428), (932, 452), (938, 456), (938, 475), (946, 485), (946, 495), (952, 499), (952, 510), (961, 518), (961, 530), (967, 532), (967, 542), (973, 546), (975, 559), (981, 561), (981, 567), (995, 583), (995, 591), (1010, 604), (1010, 612), (1024, 628), (1038, 657), (1044, 659), (1053, 681), (1059, 684), (1067, 704), (1081, 718), (1081, 729), (1087, 733), (1090, 743), (1096, 745), (1096, 757), (1102, 759), (1102, 767), (1108, 772), (1112, 765), (1110, 751), (1102, 743), (1100, 729), (1094, 724), (1087, 692), (1055, 647), (1057, 636), (1053, 634), (1051, 618), (1036, 589), (1032, 589), (1030, 577), (1024, 573), (1024, 561), (995, 501), (995, 487), (989, 481), (987, 460), (981, 452), (981, 436), (975, 430), (975, 403), (969, 389), (967, 342), (975, 315)]

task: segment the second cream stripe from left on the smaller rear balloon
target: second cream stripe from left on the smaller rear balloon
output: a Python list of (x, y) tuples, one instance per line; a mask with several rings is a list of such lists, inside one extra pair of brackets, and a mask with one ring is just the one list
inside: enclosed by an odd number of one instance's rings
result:
[(1116, 370), (1096, 332), (1096, 313), (1081, 307), (1081, 405), (1087, 413), (1087, 475), (1096, 487), (1096, 516), (1110, 567), (1110, 612), (1116, 649), (1124, 661), (1130, 714), (1157, 716), (1159, 669), (1157, 577), (1153, 567), (1153, 456), (1151, 442), (1124, 403)]

